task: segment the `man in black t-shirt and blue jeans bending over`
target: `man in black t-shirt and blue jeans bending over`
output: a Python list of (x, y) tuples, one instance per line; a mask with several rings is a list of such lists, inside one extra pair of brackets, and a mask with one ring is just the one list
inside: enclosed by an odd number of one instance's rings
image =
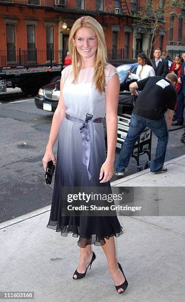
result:
[[(163, 164), (168, 143), (168, 128), (172, 122), (177, 99), (174, 88), (177, 81), (178, 77), (174, 73), (170, 73), (166, 77), (151, 76), (130, 84), (131, 93), (138, 98), (132, 112), (126, 139), (116, 162), (116, 175), (124, 175), (124, 169), (128, 166), (135, 142), (146, 127), (150, 128), (158, 139), (155, 158), (151, 160), (150, 164), (151, 173), (158, 174), (167, 171)], [(143, 89), (140, 94), (136, 91), (138, 88)]]

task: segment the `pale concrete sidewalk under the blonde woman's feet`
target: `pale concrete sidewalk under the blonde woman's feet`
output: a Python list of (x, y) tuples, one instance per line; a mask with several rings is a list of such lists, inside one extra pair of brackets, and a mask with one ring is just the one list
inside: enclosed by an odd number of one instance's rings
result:
[[(167, 173), (147, 169), (112, 186), (185, 186), (185, 155), (165, 166)], [(119, 295), (101, 247), (92, 246), (96, 259), (86, 277), (72, 279), (78, 238), (46, 228), (50, 207), (0, 224), (0, 291), (32, 291), (36, 302), (184, 301), (184, 216), (119, 216), (124, 234), (115, 238), (117, 257), (128, 280)]]

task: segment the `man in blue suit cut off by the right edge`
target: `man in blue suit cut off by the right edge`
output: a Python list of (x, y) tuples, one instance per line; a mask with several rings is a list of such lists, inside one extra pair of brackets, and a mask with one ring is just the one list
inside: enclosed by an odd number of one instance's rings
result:
[[(181, 67), (181, 76), (178, 78), (178, 81), (179, 83), (181, 83), (181, 86), (179, 87), (178, 94), (177, 94), (177, 111), (176, 111), (177, 120), (172, 123), (172, 125), (174, 126), (183, 125), (183, 120), (185, 124), (185, 52), (183, 52), (183, 60), (184, 63), (182, 64)], [(185, 132), (181, 137), (181, 141), (185, 143)]]

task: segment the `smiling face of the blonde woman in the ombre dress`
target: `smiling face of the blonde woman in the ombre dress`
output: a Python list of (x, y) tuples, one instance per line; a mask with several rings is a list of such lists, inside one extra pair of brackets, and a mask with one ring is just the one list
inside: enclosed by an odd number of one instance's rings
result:
[(74, 42), (76, 43), (78, 53), (83, 58), (91, 58), (93, 55), (95, 56), (97, 49), (97, 37), (91, 28), (80, 28), (75, 34)]

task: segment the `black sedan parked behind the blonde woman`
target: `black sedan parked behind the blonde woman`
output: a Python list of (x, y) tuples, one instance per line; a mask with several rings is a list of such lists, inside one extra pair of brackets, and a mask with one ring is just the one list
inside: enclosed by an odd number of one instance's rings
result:
[[(120, 78), (120, 98), (123, 94), (129, 94), (130, 79), (128, 78), (127, 71), (136, 73), (138, 63), (137, 60), (110, 60), (110, 64), (117, 68)], [(54, 83), (47, 84), (39, 89), (38, 94), (35, 96), (35, 105), (37, 108), (55, 112), (60, 96), (60, 80)]]

